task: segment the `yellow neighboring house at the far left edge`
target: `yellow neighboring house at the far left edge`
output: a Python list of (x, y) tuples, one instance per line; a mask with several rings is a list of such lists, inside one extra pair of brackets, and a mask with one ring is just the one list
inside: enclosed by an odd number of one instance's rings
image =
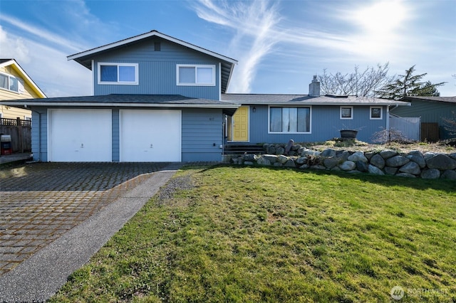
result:
[[(33, 80), (14, 59), (0, 59), (0, 100), (46, 98)], [(0, 118), (31, 119), (31, 111), (0, 105)]]

